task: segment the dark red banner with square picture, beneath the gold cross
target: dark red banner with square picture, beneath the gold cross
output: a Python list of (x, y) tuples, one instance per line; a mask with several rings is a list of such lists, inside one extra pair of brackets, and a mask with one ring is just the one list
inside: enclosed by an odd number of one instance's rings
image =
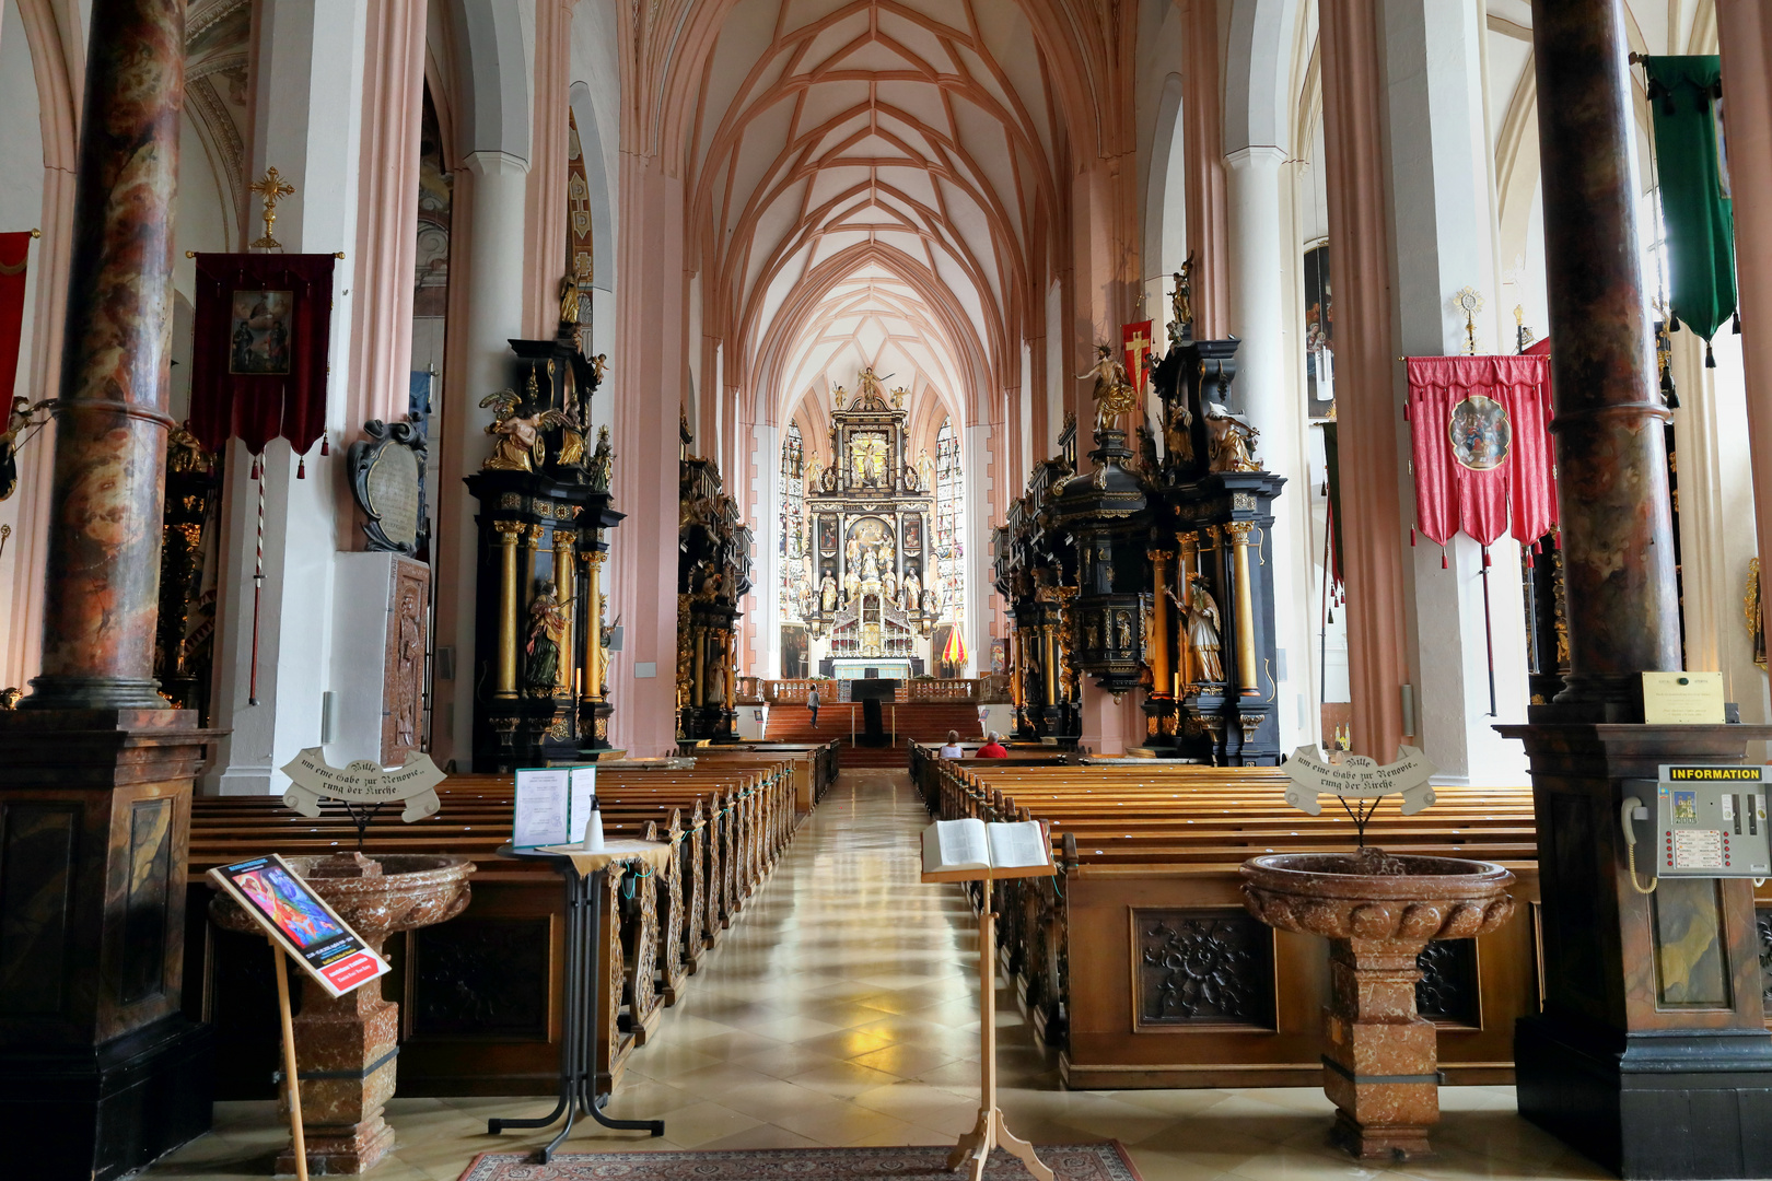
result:
[(197, 255), (191, 434), (253, 455), (284, 436), (307, 452), (326, 430), (331, 255)]

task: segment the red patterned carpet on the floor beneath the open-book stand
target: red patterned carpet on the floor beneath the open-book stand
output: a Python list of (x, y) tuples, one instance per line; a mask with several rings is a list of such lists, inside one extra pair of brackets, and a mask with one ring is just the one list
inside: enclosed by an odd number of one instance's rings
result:
[[(560, 1153), (537, 1165), (528, 1153), (482, 1153), (461, 1181), (953, 1181), (943, 1146), (787, 1147), (725, 1153)], [(1118, 1140), (1042, 1144), (1056, 1181), (1139, 1181)], [(991, 1154), (989, 1181), (1030, 1181), (1019, 1160)]]

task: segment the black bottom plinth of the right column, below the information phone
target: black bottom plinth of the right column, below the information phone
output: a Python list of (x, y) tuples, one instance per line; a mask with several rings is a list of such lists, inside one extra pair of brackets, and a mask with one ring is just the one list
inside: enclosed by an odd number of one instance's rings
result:
[(1513, 1030), (1520, 1115), (1625, 1181), (1772, 1176), (1772, 1041), (1742, 1030)]

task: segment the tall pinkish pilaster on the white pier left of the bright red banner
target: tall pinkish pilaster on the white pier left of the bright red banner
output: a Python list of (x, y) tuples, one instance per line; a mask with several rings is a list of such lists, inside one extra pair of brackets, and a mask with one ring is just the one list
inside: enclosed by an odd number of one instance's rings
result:
[(1379, 4), (1324, 5), (1320, 44), (1341, 469), (1363, 473), (1341, 487), (1354, 749), (1387, 761), (1403, 738), (1409, 666)]

